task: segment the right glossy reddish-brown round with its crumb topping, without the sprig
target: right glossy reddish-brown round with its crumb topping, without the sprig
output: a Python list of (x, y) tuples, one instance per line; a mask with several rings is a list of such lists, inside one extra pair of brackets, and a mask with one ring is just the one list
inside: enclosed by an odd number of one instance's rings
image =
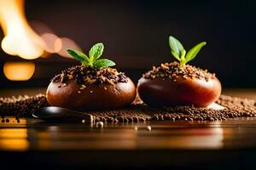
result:
[(207, 107), (218, 99), (221, 84), (215, 74), (172, 62), (153, 67), (144, 74), (137, 90), (147, 105)]

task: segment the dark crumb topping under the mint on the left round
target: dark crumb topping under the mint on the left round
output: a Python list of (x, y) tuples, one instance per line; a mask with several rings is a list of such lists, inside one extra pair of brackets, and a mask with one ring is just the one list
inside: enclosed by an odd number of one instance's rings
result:
[[(86, 88), (84, 84), (115, 84), (118, 82), (128, 82), (127, 77), (123, 72), (118, 72), (113, 68), (94, 68), (91, 66), (76, 65), (70, 67), (61, 74), (56, 75), (51, 82), (61, 82), (66, 85), (68, 80), (74, 80), (81, 84), (80, 89)], [(67, 86), (67, 85), (66, 85)]]

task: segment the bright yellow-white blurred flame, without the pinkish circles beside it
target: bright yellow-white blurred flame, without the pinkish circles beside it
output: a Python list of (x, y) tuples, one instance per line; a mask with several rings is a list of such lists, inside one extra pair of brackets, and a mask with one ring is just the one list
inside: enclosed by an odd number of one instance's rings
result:
[(44, 41), (26, 21), (23, 0), (0, 0), (0, 24), (5, 53), (24, 59), (36, 59), (44, 53)]

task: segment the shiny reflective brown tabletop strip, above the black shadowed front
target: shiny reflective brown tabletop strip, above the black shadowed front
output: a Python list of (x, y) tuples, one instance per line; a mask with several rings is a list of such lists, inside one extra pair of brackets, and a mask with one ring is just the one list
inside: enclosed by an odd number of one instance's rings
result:
[(256, 148), (256, 117), (223, 122), (0, 124), (0, 150), (223, 150)]

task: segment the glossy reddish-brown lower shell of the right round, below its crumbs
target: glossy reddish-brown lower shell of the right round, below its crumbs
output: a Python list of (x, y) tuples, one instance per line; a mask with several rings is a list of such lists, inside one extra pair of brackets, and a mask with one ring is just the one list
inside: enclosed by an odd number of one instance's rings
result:
[(218, 78), (207, 82), (199, 78), (177, 77), (171, 79), (141, 78), (137, 85), (138, 94), (143, 102), (152, 106), (195, 105), (207, 107), (221, 94)]

